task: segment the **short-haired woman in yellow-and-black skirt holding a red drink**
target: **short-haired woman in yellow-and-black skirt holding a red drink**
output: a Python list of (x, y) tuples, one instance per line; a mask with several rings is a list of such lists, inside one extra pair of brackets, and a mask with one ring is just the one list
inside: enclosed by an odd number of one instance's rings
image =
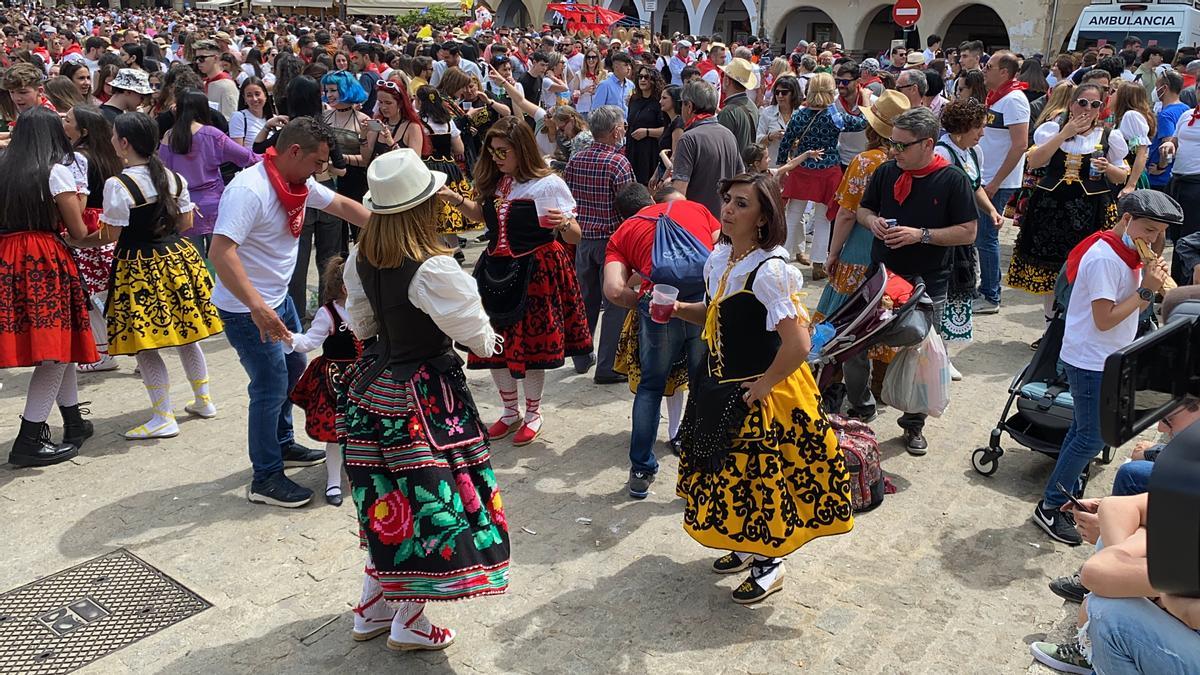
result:
[(784, 556), (854, 520), (845, 458), (805, 363), (803, 277), (781, 246), (779, 184), (740, 174), (719, 187), (707, 305), (677, 304), (680, 318), (704, 327), (708, 354), (684, 413), (676, 492), (684, 531), (730, 551), (713, 571), (750, 568), (733, 591), (733, 602), (750, 604), (782, 589)]

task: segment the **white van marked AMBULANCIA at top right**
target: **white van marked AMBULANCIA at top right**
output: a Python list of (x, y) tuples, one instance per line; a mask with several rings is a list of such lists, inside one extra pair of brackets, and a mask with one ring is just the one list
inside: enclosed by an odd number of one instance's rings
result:
[(1186, 47), (1200, 43), (1200, 0), (1116, 2), (1092, 0), (1079, 14), (1067, 48), (1086, 49), (1104, 41), (1121, 50), (1136, 36), (1142, 47)]

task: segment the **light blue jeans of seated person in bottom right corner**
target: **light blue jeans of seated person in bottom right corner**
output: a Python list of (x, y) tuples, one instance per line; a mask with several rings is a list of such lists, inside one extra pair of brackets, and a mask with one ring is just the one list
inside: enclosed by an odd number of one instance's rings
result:
[(1200, 634), (1146, 598), (1087, 597), (1092, 668), (1102, 675), (1200, 673)]

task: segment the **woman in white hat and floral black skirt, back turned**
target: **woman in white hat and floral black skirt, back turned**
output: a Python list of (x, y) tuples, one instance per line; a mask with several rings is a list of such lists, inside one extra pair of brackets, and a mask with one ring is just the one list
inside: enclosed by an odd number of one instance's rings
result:
[[(509, 525), (462, 359), (452, 342), (491, 356), (500, 339), (479, 291), (434, 228), (445, 175), (402, 148), (367, 172), (372, 215), (346, 264), (349, 313), (377, 336), (344, 375), (337, 430), (367, 550), (353, 637), (389, 633), (392, 650), (439, 650), (455, 632), (424, 615), (427, 601), (503, 593)], [(437, 193), (437, 197), (434, 197)]]

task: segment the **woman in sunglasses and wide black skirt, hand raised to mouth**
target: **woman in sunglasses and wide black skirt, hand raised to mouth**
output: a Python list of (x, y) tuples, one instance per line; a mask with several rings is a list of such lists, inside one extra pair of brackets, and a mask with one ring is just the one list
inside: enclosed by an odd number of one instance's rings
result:
[(1120, 130), (1100, 124), (1104, 89), (1075, 88), (1067, 113), (1033, 133), (1026, 166), (1044, 167), (1030, 196), (1008, 265), (1008, 285), (1043, 295), (1046, 321), (1054, 317), (1054, 286), (1067, 253), (1087, 235), (1117, 221), (1115, 185), (1129, 177), (1129, 147)]

